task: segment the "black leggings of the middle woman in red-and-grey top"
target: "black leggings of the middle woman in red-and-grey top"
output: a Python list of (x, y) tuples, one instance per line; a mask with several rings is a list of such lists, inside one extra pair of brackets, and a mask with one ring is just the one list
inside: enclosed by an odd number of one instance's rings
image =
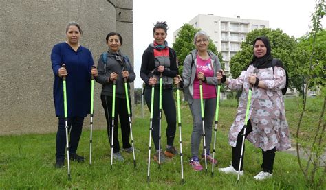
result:
[[(159, 97), (160, 89), (155, 88), (154, 93), (154, 106), (153, 106), (153, 120), (152, 120), (152, 136), (155, 145), (155, 150), (159, 150), (158, 141), (159, 141)], [(151, 88), (145, 88), (144, 97), (146, 100), (146, 104), (151, 111)], [(177, 111), (175, 110), (175, 101), (173, 98), (172, 89), (162, 89), (162, 109), (164, 111), (164, 115), (166, 117), (166, 123), (168, 126), (166, 127), (166, 141), (168, 145), (173, 145), (175, 130), (177, 124)], [(161, 126), (162, 130), (162, 126)]]

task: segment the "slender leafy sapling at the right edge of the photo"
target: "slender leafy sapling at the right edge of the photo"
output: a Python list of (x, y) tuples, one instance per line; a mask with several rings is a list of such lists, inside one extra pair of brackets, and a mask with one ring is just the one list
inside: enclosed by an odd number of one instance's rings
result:
[[(296, 153), (298, 157), (298, 165), (305, 176), (307, 186), (318, 189), (323, 185), (326, 175), (325, 160), (322, 160), (322, 155), (325, 151), (325, 108), (326, 108), (326, 89), (325, 89), (325, 37), (326, 33), (323, 31), (320, 24), (321, 19), (326, 14), (325, 0), (316, 1), (316, 10), (312, 14), (312, 31), (303, 38), (301, 38), (300, 46), (307, 52), (308, 61), (301, 68), (304, 73), (305, 94), (302, 101), (298, 102), (300, 116), (298, 118), (298, 126), (296, 128)], [(320, 117), (318, 123), (311, 125), (311, 130), (314, 135), (305, 139), (301, 134), (301, 127), (303, 121), (309, 119), (309, 106), (307, 106), (308, 89), (319, 88), (320, 94), (318, 99), (323, 99), (323, 102), (318, 104), (314, 101), (320, 109)], [(311, 121), (311, 120), (310, 120)], [(315, 126), (316, 125), (316, 126)], [(323, 141), (324, 139), (324, 141)], [(299, 149), (302, 147), (305, 154), (307, 154), (307, 162), (301, 162), (301, 155)]]

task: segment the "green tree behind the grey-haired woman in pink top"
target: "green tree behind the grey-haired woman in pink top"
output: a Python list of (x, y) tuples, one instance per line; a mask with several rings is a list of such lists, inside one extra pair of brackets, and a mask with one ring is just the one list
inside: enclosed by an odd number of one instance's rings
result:
[[(182, 71), (184, 69), (184, 59), (188, 54), (191, 53), (193, 49), (195, 49), (195, 44), (193, 43), (193, 37), (200, 29), (196, 29), (190, 24), (185, 23), (182, 25), (179, 33), (177, 34), (177, 38), (175, 39), (175, 43), (173, 43), (173, 49), (177, 54), (177, 60), (179, 62), (179, 73), (182, 75)], [(208, 49), (212, 51), (214, 54), (217, 54), (217, 48), (214, 45), (212, 40), (209, 40)], [(219, 61), (222, 64), (222, 56), (218, 54)]]

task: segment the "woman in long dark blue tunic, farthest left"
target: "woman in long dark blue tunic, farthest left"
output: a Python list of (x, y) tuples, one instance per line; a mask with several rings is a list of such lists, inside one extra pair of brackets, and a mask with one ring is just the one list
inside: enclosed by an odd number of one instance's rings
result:
[[(76, 154), (84, 117), (90, 112), (91, 74), (98, 75), (91, 51), (79, 44), (82, 30), (78, 23), (69, 22), (66, 27), (67, 40), (54, 45), (51, 53), (54, 73), (53, 97), (58, 117), (56, 133), (56, 165), (63, 167), (65, 161), (65, 112), (63, 108), (63, 76), (66, 77), (68, 127), (70, 132), (69, 158), (83, 162), (85, 158)], [(63, 67), (65, 64), (65, 68)]]

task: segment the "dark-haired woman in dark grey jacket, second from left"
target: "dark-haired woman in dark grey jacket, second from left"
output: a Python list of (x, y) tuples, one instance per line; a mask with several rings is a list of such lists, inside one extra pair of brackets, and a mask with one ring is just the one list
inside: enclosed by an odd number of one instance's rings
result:
[[(98, 60), (98, 77), (96, 82), (102, 84), (102, 93), (100, 99), (105, 111), (107, 119), (107, 136), (111, 145), (111, 121), (112, 121), (112, 101), (113, 101), (113, 80), (116, 80), (116, 107), (113, 129), (113, 158), (117, 161), (124, 161), (120, 153), (120, 145), (118, 141), (118, 117), (121, 124), (122, 133), (122, 150), (132, 152), (132, 147), (129, 143), (130, 127), (128, 119), (126, 92), (124, 89), (124, 78), (127, 78), (128, 88), (129, 83), (135, 80), (135, 73), (129, 58), (122, 54), (120, 47), (122, 45), (122, 36), (117, 32), (110, 32), (105, 38), (107, 46), (107, 54), (102, 54)], [(104, 58), (103, 56), (107, 56)], [(128, 91), (129, 93), (129, 91)], [(129, 102), (130, 101), (130, 95)], [(129, 105), (131, 106), (131, 105)], [(130, 107), (131, 110), (131, 107)]]

